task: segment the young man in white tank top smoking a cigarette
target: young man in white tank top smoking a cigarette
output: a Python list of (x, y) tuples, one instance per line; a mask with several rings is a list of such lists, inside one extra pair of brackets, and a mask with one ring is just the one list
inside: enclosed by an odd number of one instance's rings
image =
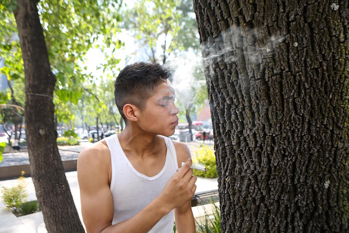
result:
[(178, 125), (169, 81), (162, 66), (143, 62), (117, 77), (115, 102), (126, 127), (83, 149), (77, 162), (88, 233), (169, 233), (174, 219), (178, 233), (195, 232), (190, 152), (168, 138)]

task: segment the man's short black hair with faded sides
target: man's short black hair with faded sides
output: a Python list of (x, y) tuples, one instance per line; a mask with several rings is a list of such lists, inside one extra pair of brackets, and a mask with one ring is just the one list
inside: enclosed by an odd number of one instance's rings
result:
[(137, 62), (121, 70), (114, 83), (114, 96), (125, 122), (125, 104), (133, 104), (143, 110), (158, 85), (167, 80), (172, 81), (170, 70), (157, 63)]

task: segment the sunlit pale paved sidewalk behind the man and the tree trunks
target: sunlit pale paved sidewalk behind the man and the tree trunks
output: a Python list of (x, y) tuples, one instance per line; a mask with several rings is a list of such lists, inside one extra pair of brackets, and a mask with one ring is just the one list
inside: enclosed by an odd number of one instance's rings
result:
[[(77, 172), (66, 172), (71, 194), (74, 199), (76, 209), (78, 211), (81, 223), (81, 204), (80, 204), (80, 190), (77, 181)], [(25, 178), (27, 184), (26, 190), (28, 192), (28, 201), (37, 200), (35, 195), (34, 185), (32, 183), (31, 177)], [(17, 184), (17, 180), (5, 180), (0, 181), (0, 189), (2, 187), (12, 187)], [(218, 189), (217, 179), (207, 179), (207, 178), (197, 178), (196, 181), (196, 193), (210, 191)], [(194, 218), (204, 216), (204, 208), (209, 209), (210, 205), (193, 207), (192, 211)], [(34, 213), (26, 216), (16, 217), (10, 211), (6, 211), (2, 200), (0, 200), (0, 233), (46, 233), (45, 224), (43, 221), (42, 213)]]

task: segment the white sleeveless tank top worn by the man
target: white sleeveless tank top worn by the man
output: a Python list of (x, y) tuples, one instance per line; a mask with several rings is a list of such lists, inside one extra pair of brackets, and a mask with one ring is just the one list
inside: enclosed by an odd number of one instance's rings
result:
[[(177, 156), (172, 140), (164, 137), (166, 161), (164, 168), (155, 176), (139, 173), (126, 157), (117, 134), (107, 137), (112, 162), (110, 191), (113, 196), (114, 216), (112, 225), (135, 216), (163, 191), (165, 185), (178, 168)], [(173, 233), (174, 210), (164, 216), (150, 233)]]

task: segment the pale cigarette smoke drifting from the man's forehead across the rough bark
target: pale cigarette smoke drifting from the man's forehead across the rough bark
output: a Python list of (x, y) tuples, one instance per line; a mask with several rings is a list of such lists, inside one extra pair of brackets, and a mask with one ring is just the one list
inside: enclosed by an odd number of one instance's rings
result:
[[(208, 38), (201, 43), (202, 56), (187, 53), (168, 63), (174, 70), (172, 86), (177, 103), (185, 107), (193, 103), (197, 90), (206, 83), (203, 67), (209, 68), (207, 81), (217, 75), (214, 67), (217, 62), (228, 65), (245, 62), (247, 66), (252, 65), (258, 69), (263, 59), (274, 54), (275, 48), (285, 39), (285, 36), (279, 34), (270, 36), (265, 30), (246, 27), (230, 27), (219, 36)], [(238, 78), (248, 89), (250, 75), (245, 72), (240, 72), (239, 75)]]

